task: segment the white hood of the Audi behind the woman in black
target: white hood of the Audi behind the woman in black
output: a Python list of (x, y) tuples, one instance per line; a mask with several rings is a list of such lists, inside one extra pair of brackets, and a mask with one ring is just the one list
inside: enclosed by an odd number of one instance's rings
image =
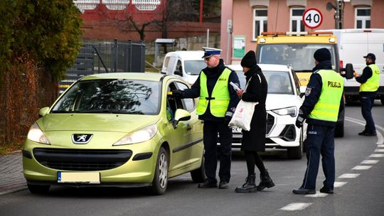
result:
[(276, 95), (268, 94), (265, 109), (281, 109), (286, 107), (300, 107), (302, 99), (297, 95)]

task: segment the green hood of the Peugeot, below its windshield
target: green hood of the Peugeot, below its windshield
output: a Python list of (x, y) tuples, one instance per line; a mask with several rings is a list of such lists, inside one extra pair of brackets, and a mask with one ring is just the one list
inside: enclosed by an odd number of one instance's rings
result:
[(37, 124), (43, 131), (130, 132), (155, 124), (159, 116), (137, 114), (46, 114)]

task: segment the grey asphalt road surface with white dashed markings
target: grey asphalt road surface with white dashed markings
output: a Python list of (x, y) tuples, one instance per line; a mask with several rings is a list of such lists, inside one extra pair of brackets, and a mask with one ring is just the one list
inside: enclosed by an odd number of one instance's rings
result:
[[(165, 195), (132, 188), (61, 188), (48, 195), (28, 190), (0, 197), (3, 215), (383, 215), (384, 106), (373, 108), (377, 137), (358, 136), (363, 130), (360, 107), (346, 107), (346, 131), (336, 139), (334, 195), (294, 195), (306, 168), (306, 158), (289, 160), (284, 151), (267, 151), (265, 165), (276, 186), (258, 193), (235, 193), (245, 180), (242, 154), (234, 151), (228, 190), (199, 189), (190, 175), (171, 179)], [(257, 178), (257, 181), (259, 179)], [(324, 174), (320, 168), (317, 190)]]

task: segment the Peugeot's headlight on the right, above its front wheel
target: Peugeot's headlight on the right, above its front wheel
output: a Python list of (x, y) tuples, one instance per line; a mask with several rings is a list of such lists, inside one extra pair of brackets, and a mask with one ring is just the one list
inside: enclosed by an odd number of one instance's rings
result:
[(115, 142), (113, 146), (137, 144), (143, 141), (147, 141), (152, 137), (154, 137), (156, 133), (157, 133), (157, 125), (152, 124), (150, 126), (144, 127), (143, 129), (140, 129), (139, 131), (134, 131), (134, 133), (124, 136), (122, 139)]

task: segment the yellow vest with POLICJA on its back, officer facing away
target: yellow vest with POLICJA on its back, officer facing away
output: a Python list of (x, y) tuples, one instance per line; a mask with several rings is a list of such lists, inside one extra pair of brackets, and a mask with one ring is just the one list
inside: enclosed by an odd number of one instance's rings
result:
[(334, 70), (319, 70), (317, 73), (319, 73), (323, 85), (319, 100), (308, 117), (336, 122), (343, 95), (344, 79)]

